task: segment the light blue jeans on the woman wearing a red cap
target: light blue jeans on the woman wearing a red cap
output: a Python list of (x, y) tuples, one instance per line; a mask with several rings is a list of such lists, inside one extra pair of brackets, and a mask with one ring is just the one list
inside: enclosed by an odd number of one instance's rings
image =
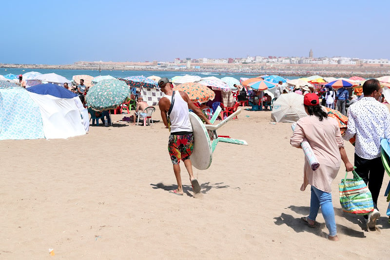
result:
[(324, 192), (312, 186), (312, 198), (310, 200), (310, 215), (309, 219), (315, 221), (318, 210), (321, 206), (322, 216), (325, 219), (326, 227), (329, 229), (329, 236), (335, 236), (336, 220), (334, 220), (334, 210), (332, 204), (332, 195), (329, 192)]

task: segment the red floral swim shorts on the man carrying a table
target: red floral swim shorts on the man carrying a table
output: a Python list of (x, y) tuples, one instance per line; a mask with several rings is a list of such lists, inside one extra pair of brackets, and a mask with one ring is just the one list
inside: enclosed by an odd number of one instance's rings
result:
[(190, 159), (194, 149), (194, 134), (170, 135), (168, 152), (173, 164), (179, 164), (180, 160)]

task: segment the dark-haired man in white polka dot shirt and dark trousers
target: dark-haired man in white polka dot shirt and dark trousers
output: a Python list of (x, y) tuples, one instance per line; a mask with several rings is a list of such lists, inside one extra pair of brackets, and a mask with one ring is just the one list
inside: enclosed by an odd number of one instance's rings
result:
[(356, 173), (368, 183), (374, 202), (374, 211), (364, 217), (368, 226), (374, 228), (380, 217), (377, 201), (385, 173), (380, 140), (390, 140), (390, 113), (386, 105), (377, 101), (382, 94), (378, 80), (367, 80), (363, 84), (363, 93), (364, 98), (348, 109), (347, 131), (343, 138), (350, 140), (356, 134)]

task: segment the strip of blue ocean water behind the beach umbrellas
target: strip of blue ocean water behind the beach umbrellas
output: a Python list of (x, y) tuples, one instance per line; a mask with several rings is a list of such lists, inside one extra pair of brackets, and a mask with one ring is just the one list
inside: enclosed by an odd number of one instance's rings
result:
[[(175, 76), (184, 76), (186, 74), (188, 75), (196, 75), (200, 76), (202, 78), (214, 76), (216, 78), (223, 78), (223, 77), (233, 77), (237, 80), (240, 78), (254, 78), (257, 76), (261, 76), (258, 74), (234, 74), (234, 73), (217, 73), (217, 72), (183, 72), (183, 71), (146, 71), (146, 70), (102, 70), (100, 73), (98, 70), (61, 70), (61, 69), (14, 69), (14, 68), (0, 68), (0, 75), (6, 75), (9, 73), (19, 75), (24, 74), (30, 71), (36, 71), (42, 74), (46, 73), (56, 73), (58, 75), (61, 75), (68, 80), (72, 80), (72, 77), (74, 75), (90, 75), (93, 77), (97, 77), (99, 75), (105, 76), (110, 75), (115, 78), (125, 78), (130, 76), (139, 76), (143, 75), (145, 77), (149, 77), (152, 75), (161, 77), (161, 78), (168, 78), (171, 79)], [(286, 79), (297, 79), (298, 77), (284, 77)]]

